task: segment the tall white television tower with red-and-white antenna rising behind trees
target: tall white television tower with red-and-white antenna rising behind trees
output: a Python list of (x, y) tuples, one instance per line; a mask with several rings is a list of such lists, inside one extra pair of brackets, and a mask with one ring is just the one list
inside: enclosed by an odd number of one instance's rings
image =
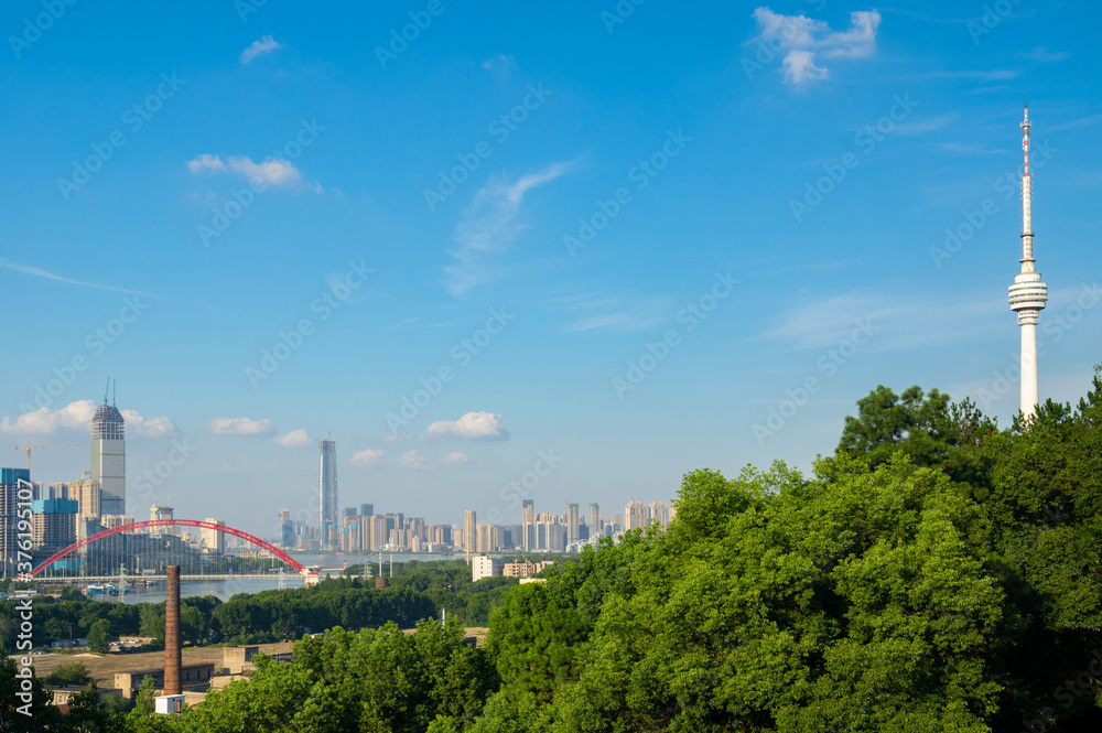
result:
[(1022, 414), (1026, 419), (1037, 411), (1037, 322), (1048, 302), (1048, 285), (1034, 270), (1033, 256), (1033, 183), (1029, 174), (1029, 107), (1022, 122), (1022, 271), (1014, 276), (1009, 288), (1011, 310), (1018, 314), (1022, 328)]

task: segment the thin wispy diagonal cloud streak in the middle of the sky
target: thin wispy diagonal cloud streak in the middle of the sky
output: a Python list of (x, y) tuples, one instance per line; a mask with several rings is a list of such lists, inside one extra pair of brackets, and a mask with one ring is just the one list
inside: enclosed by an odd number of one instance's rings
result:
[(449, 254), (458, 260), (444, 268), (451, 282), (447, 289), (456, 295), (471, 288), (489, 281), (480, 258), (485, 255), (504, 252), (516, 236), (527, 228), (517, 222), (525, 194), (569, 173), (575, 161), (552, 163), (537, 173), (522, 175), (516, 181), (491, 180), (476, 195), (474, 204), (464, 213), (455, 240), (458, 249)]

